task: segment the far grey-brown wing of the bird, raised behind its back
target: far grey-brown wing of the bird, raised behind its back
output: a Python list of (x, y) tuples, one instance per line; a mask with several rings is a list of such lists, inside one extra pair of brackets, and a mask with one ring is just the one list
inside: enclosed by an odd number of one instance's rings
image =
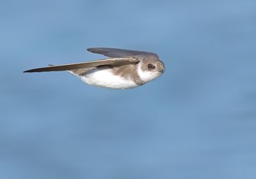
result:
[(88, 48), (89, 52), (95, 54), (102, 54), (106, 57), (131, 57), (134, 55), (145, 55), (145, 56), (155, 56), (158, 58), (157, 54), (152, 52), (143, 52), (143, 51), (135, 51), (135, 50), (125, 50), (119, 48)]

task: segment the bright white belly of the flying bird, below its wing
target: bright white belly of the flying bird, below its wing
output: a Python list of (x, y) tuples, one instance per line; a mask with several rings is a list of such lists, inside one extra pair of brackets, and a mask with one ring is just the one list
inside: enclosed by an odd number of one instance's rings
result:
[(95, 87), (106, 87), (111, 89), (130, 89), (138, 85), (131, 79), (123, 78), (119, 75), (114, 75), (111, 69), (93, 69), (81, 76), (83, 82)]

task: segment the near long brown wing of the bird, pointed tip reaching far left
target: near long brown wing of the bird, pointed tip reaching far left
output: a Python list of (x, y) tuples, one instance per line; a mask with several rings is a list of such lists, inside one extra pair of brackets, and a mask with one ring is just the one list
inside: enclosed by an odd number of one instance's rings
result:
[(48, 66), (44, 68), (35, 68), (24, 71), (28, 72), (42, 72), (42, 71), (66, 71), (71, 69), (81, 69), (81, 68), (95, 68), (102, 65), (116, 65), (122, 66), (125, 64), (137, 64), (139, 60), (136, 57), (125, 57), (125, 58), (111, 58), (103, 59), (99, 61), (81, 62), (76, 64), (64, 64), (60, 66)]

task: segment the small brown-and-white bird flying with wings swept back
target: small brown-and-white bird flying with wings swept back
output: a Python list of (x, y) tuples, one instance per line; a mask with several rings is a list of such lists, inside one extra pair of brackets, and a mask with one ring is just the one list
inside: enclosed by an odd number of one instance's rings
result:
[(89, 52), (108, 58), (74, 64), (49, 65), (24, 73), (68, 71), (83, 82), (108, 89), (132, 89), (155, 80), (164, 73), (164, 63), (152, 52), (121, 48), (87, 48)]

